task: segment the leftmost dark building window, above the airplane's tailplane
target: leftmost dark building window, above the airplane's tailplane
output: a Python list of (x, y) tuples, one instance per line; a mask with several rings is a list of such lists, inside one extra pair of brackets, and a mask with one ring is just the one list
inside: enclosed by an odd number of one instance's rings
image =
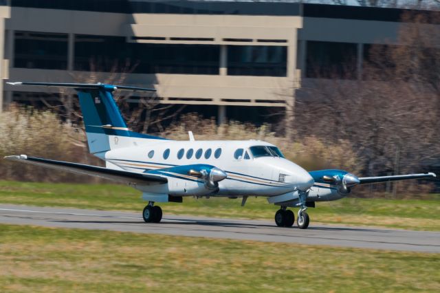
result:
[(67, 34), (15, 32), (14, 67), (67, 69)]

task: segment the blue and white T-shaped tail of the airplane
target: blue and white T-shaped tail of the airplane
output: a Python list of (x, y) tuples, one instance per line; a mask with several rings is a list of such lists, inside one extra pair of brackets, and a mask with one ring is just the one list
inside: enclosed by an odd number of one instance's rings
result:
[[(73, 87), (78, 91), (80, 108), (89, 144), (89, 151), (102, 158), (111, 149), (133, 146), (142, 140), (164, 140), (153, 135), (130, 131), (113, 99), (113, 91), (126, 89), (132, 91), (155, 91), (142, 87), (85, 83), (8, 83), (10, 85), (34, 85), (43, 87)], [(142, 143), (142, 142), (141, 142)]]

